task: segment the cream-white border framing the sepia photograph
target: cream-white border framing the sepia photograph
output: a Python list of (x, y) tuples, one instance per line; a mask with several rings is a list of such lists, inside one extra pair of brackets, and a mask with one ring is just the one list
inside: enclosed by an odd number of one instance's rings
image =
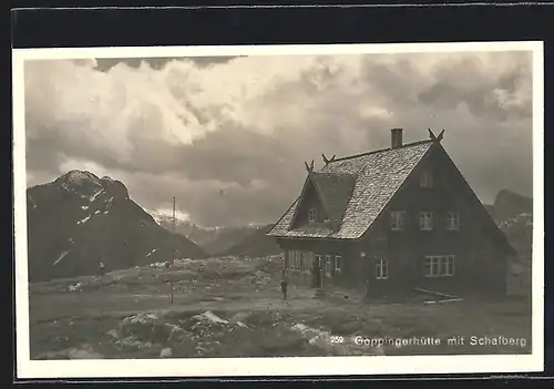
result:
[[(93, 58), (533, 52), (532, 355), (30, 360), (24, 61)], [(306, 377), (514, 373), (544, 369), (544, 51), (541, 41), (13, 49), (13, 196), (17, 378)], [(24, 258), (24, 259), (23, 259)], [(184, 364), (184, 361), (186, 361)]]

